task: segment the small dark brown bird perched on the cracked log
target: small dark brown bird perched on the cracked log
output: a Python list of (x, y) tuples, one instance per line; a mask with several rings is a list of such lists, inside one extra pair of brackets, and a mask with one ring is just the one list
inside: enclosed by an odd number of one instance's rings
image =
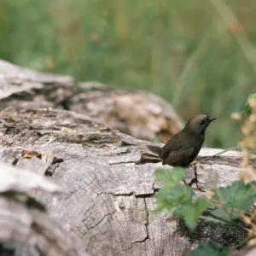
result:
[(163, 165), (189, 166), (199, 154), (208, 125), (215, 119), (205, 114), (195, 115), (189, 119), (183, 130), (177, 132), (163, 148), (158, 150)]

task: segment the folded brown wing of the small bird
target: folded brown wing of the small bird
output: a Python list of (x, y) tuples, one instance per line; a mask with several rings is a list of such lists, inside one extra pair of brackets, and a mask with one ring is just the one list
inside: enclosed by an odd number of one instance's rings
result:
[(166, 156), (166, 158), (163, 159), (163, 165), (177, 165), (180, 163), (183, 159), (191, 156), (194, 153), (194, 148), (179, 148), (177, 150), (172, 150), (169, 152), (169, 154)]

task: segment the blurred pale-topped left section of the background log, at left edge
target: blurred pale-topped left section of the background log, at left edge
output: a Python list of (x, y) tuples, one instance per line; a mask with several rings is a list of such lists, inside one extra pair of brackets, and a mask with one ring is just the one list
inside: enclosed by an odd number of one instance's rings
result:
[(73, 78), (0, 60), (0, 109), (58, 107), (72, 95)]

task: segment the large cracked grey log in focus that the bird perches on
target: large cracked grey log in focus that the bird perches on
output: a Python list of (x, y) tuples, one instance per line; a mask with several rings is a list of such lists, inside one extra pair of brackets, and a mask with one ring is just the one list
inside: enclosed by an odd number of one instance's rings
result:
[[(55, 199), (40, 191), (35, 195), (52, 218), (79, 236), (91, 256), (179, 256), (209, 238), (221, 246), (246, 237), (236, 227), (206, 222), (191, 233), (181, 219), (140, 211), (154, 208), (161, 185), (154, 171), (171, 167), (161, 165), (147, 142), (90, 117), (49, 108), (5, 111), (0, 132), (1, 160), (46, 175), (64, 188), (66, 195)], [(216, 152), (203, 148), (201, 155)], [(236, 152), (205, 161), (197, 169), (200, 186), (232, 183), (240, 162)], [(186, 180), (193, 177), (194, 170), (188, 169)]]

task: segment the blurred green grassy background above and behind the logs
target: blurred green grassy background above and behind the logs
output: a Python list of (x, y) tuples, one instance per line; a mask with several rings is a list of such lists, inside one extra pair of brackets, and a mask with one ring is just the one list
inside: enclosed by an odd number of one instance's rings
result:
[(255, 24), (255, 0), (1, 0), (0, 58), (150, 90), (184, 120), (218, 116), (207, 146), (227, 148), (256, 88)]

